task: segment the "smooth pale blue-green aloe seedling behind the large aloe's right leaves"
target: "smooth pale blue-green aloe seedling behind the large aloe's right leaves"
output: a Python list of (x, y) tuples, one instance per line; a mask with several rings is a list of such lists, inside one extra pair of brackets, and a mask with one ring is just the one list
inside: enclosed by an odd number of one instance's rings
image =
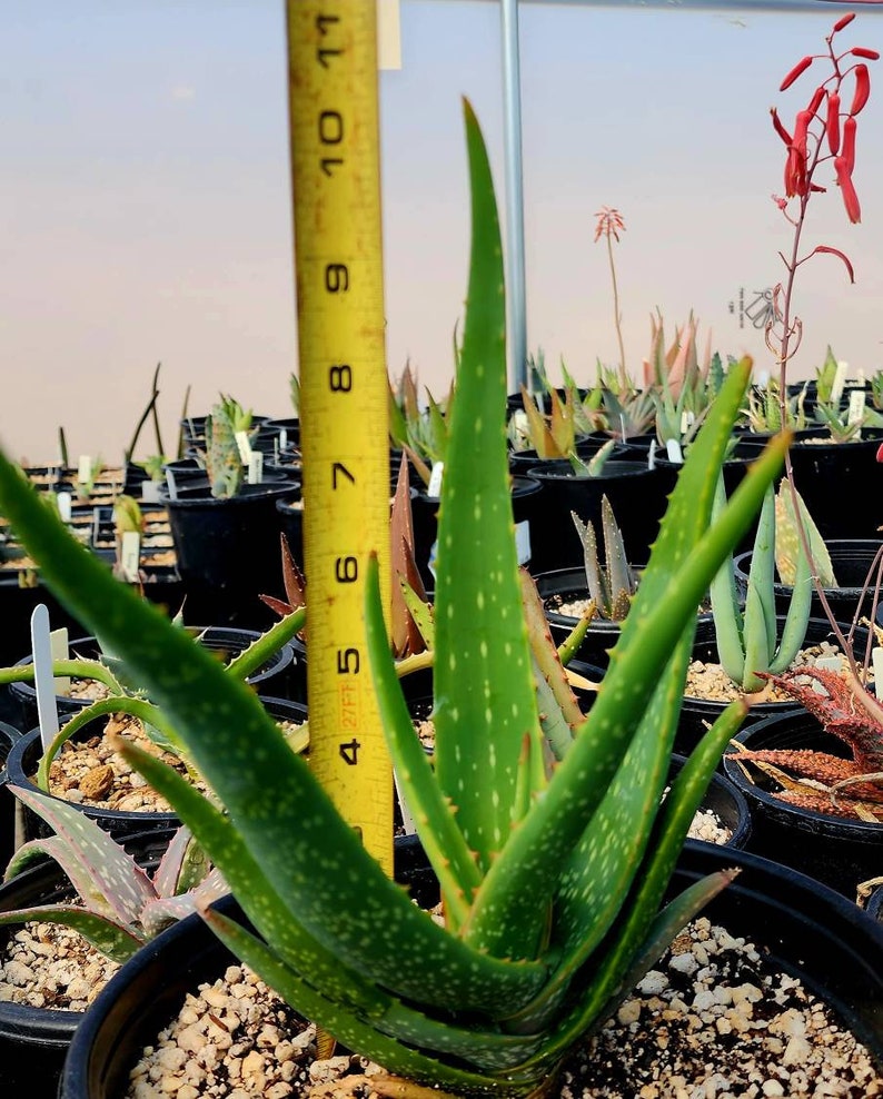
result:
[[(726, 499), (723, 478), (718, 479), (714, 509)], [(797, 543), (797, 565), (791, 604), (778, 634), (775, 608), (775, 505), (772, 486), (764, 496), (757, 533), (754, 537), (745, 608), (736, 592), (736, 576), (731, 557), (711, 586), (712, 614), (721, 666), (743, 691), (762, 690), (758, 673), (784, 672), (801, 650), (810, 621), (813, 584), (810, 561)]]

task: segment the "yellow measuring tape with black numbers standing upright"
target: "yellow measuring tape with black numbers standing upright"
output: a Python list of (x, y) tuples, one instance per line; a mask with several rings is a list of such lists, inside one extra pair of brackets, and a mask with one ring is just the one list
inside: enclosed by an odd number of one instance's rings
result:
[(288, 0), (310, 765), (391, 872), (393, 779), (365, 647), (389, 584), (377, 29), (373, 0)]

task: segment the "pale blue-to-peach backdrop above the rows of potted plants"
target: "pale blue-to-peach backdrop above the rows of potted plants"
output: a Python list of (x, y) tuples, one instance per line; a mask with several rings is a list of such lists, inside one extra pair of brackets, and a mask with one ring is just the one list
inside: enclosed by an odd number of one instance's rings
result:
[[(219, 390), (287, 415), (296, 366), (286, 58), (281, 0), (3, 0), (0, 4), (0, 438), (53, 459), (118, 459), (163, 363), (171, 446), (187, 384), (192, 413)], [(862, 12), (844, 46), (881, 49)], [(783, 147), (768, 108), (793, 118), (811, 81), (783, 75), (823, 48), (830, 13), (522, 7), (528, 346), (588, 380), (616, 339), (594, 214), (617, 207), (626, 354), (639, 369), (649, 314), (691, 308), (723, 354), (763, 340), (738, 298), (783, 275), (790, 242), (771, 195)], [(403, 0), (404, 67), (380, 78), (387, 350), (435, 393), (452, 373), (467, 263), (460, 96), (473, 100), (503, 201), (495, 3)], [(876, 78), (872, 65), (872, 83)], [(883, 72), (883, 70), (881, 70)], [(796, 296), (807, 374), (831, 343), (883, 366), (883, 102), (860, 118), (850, 226), (833, 186), (816, 196), (816, 257)], [(833, 175), (833, 172), (831, 174)], [(833, 180), (831, 180), (833, 185)], [(734, 311), (730, 313), (730, 303)], [(147, 445), (149, 452), (151, 446)], [(142, 452), (145, 453), (145, 452)]]

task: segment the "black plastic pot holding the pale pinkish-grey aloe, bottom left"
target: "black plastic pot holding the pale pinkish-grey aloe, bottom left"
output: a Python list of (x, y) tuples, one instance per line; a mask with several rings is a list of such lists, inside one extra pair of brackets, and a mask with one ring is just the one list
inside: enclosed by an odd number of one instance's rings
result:
[[(167, 830), (131, 836), (126, 849), (140, 865), (152, 870), (171, 835)], [(70, 895), (67, 877), (47, 860), (0, 885), (0, 909), (46, 904)], [(6, 944), (17, 930), (0, 928), (0, 943)], [(83, 1017), (82, 1011), (0, 1001), (0, 1093), (9, 1099), (54, 1099), (70, 1040)]]

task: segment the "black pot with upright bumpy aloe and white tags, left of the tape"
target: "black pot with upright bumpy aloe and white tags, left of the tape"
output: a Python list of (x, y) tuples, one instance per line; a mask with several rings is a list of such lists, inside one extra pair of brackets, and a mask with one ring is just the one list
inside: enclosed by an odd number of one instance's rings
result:
[(227, 499), (189, 486), (177, 499), (163, 496), (191, 616), (250, 628), (275, 621), (260, 595), (282, 590), (276, 502), (298, 489), (284, 481), (246, 485)]

